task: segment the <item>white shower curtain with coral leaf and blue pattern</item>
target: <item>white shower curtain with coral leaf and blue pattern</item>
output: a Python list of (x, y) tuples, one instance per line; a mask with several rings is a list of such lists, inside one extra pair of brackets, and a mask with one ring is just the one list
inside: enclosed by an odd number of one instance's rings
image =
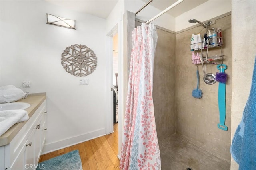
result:
[(142, 24), (134, 29), (133, 40), (120, 169), (160, 170), (152, 98), (156, 27)]

